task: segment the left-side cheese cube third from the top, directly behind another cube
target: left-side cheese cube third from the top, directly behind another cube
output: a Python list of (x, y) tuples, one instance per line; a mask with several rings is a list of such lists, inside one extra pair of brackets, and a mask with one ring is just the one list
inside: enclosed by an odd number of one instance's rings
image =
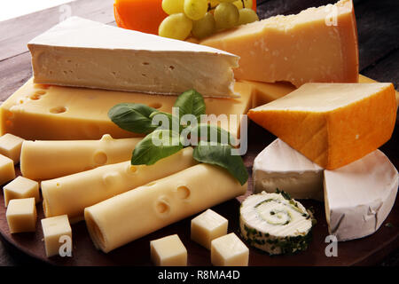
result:
[(34, 197), (35, 203), (40, 201), (39, 183), (27, 177), (17, 177), (3, 189), (5, 207), (12, 199)]

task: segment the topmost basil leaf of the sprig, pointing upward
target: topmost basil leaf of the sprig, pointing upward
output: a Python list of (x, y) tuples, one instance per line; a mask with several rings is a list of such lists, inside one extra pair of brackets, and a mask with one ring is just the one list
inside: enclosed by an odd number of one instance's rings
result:
[(179, 107), (179, 122), (184, 114), (193, 114), (200, 122), (200, 115), (205, 114), (205, 101), (202, 95), (195, 90), (184, 91), (177, 97), (175, 107)]

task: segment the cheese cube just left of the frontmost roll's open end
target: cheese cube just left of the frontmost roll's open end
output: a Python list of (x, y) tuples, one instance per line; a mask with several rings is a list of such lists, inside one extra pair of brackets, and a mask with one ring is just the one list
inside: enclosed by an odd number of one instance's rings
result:
[(42, 219), (42, 227), (46, 256), (59, 255), (59, 247), (62, 245), (60, 238), (68, 236), (72, 240), (72, 230), (67, 215)]

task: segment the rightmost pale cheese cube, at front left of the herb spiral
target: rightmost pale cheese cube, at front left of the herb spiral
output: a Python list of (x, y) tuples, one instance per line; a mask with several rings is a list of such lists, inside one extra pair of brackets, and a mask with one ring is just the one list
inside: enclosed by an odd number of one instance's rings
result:
[(249, 249), (235, 233), (212, 241), (211, 262), (215, 266), (247, 266)]

